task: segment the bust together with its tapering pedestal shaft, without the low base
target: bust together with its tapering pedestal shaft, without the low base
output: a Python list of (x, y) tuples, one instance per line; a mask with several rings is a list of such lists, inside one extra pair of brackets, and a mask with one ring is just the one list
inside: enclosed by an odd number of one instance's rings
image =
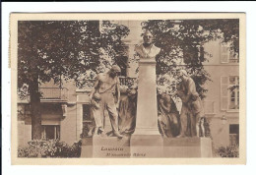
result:
[(144, 43), (135, 47), (140, 56), (138, 105), (135, 135), (160, 136), (158, 127), (157, 83), (156, 83), (156, 55), (160, 48), (153, 43), (150, 31), (144, 34)]

